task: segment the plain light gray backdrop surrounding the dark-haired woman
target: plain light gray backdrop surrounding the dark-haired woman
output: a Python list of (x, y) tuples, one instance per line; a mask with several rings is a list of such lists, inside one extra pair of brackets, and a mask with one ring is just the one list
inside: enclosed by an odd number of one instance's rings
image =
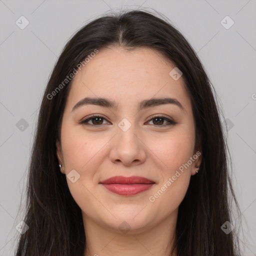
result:
[[(0, 0), (0, 255), (13, 255), (38, 106), (62, 47), (76, 29), (100, 14), (139, 6), (168, 17), (209, 74), (222, 121), (229, 124), (244, 255), (256, 255), (256, 0)], [(24, 29), (15, 24), (21, 15), (29, 21)], [(234, 21), (229, 29), (220, 23), (226, 15)], [(28, 127), (20, 126), (21, 118)]]

